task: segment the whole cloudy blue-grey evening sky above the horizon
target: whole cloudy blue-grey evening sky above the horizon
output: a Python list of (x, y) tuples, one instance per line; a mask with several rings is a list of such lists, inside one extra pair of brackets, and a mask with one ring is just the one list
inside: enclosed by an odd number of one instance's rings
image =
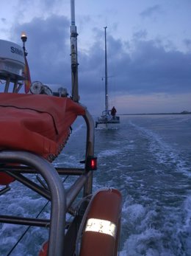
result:
[[(104, 108), (104, 27), (109, 106), (118, 114), (191, 111), (190, 0), (76, 0), (79, 94)], [(26, 49), (32, 80), (71, 93), (71, 3), (1, 0), (0, 38)], [(22, 44), (21, 44), (22, 45)]]

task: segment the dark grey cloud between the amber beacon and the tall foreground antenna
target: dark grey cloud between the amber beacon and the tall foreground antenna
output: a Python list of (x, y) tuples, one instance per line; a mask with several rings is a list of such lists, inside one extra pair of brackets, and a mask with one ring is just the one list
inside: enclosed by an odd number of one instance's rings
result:
[[(25, 31), (28, 40), (28, 62), (32, 80), (43, 83), (70, 83), (70, 27), (64, 16), (52, 15), (49, 18), (34, 18), (31, 22), (16, 25), (13, 38)], [(21, 44), (21, 41), (18, 41)]]

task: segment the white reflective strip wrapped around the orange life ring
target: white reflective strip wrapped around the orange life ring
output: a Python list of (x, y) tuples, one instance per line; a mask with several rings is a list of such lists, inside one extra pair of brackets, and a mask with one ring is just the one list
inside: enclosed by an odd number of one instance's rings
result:
[(111, 221), (100, 220), (98, 218), (89, 218), (85, 227), (85, 232), (86, 231), (111, 235), (113, 238), (115, 238), (116, 225)]

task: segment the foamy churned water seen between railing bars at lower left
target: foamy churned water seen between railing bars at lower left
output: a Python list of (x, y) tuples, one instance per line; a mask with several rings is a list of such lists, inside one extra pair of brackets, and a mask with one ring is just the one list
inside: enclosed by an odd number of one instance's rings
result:
[[(32, 198), (34, 195), (30, 190), (26, 190), (24, 186), (20, 186), (20, 190), (15, 190), (14, 188), (18, 187), (17, 183), (18, 182), (15, 181), (11, 184), (12, 190), (7, 193), (7, 196), (1, 196), (1, 205), (7, 205), (6, 208), (1, 209), (1, 214), (7, 213), (8, 215), (13, 214), (24, 217), (37, 216), (37, 214), (46, 204), (47, 200), (44, 198)], [(16, 196), (15, 191), (17, 191)], [(45, 210), (40, 215), (40, 218), (49, 218), (49, 212), (46, 212)], [(1, 224), (0, 255), (7, 255), (27, 228), (28, 226)], [(39, 243), (43, 243), (43, 241), (46, 241), (47, 238), (47, 229), (31, 227), (21, 242), (18, 243), (18, 246), (16, 246), (11, 255), (37, 255), (37, 252), (39, 252), (40, 249)], [(35, 246), (35, 243), (37, 243), (37, 246)], [(30, 248), (30, 244), (32, 244), (33, 248)]]

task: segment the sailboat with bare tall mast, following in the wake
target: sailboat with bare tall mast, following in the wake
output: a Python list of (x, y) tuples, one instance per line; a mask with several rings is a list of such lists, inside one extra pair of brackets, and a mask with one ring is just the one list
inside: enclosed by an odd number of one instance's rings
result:
[(120, 117), (116, 116), (116, 109), (113, 107), (109, 110), (108, 104), (108, 76), (107, 76), (107, 27), (104, 27), (105, 32), (105, 109), (102, 111), (101, 117), (95, 122), (95, 128), (113, 128), (120, 123)]

